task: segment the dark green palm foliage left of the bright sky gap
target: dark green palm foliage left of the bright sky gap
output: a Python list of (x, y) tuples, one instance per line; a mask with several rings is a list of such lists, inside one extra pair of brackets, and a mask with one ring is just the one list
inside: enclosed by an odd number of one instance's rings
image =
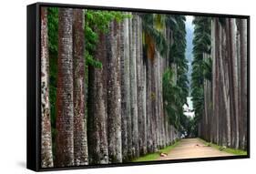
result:
[(187, 103), (189, 96), (185, 21), (184, 15), (166, 16), (166, 26), (173, 32), (173, 44), (169, 46), (169, 63), (177, 66), (177, 72), (169, 67), (163, 74), (163, 99), (169, 123), (183, 133), (189, 124), (188, 118), (183, 114), (183, 105)]

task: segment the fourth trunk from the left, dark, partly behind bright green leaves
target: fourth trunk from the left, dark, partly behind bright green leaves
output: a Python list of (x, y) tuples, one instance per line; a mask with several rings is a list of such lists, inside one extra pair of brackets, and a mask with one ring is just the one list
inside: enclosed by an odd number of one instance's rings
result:
[(107, 108), (106, 108), (106, 36), (98, 33), (95, 59), (102, 68), (88, 67), (88, 155), (90, 164), (108, 164)]

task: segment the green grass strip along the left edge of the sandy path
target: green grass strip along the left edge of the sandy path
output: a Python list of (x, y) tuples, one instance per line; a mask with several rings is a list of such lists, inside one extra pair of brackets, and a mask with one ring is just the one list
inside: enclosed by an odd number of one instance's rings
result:
[[(170, 145), (166, 148), (159, 149), (159, 152), (169, 154), (170, 150), (177, 147), (179, 145), (179, 140), (176, 141), (173, 145)], [(148, 160), (157, 160), (159, 159), (159, 152), (150, 153), (145, 156), (139, 157), (138, 159), (132, 160), (132, 162), (141, 162), (141, 161), (148, 161)]]

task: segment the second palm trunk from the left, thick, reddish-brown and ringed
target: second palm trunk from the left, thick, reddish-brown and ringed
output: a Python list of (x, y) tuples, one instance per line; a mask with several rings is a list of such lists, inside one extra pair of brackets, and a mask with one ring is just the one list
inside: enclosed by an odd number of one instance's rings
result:
[(73, 9), (59, 9), (56, 91), (56, 167), (74, 165)]

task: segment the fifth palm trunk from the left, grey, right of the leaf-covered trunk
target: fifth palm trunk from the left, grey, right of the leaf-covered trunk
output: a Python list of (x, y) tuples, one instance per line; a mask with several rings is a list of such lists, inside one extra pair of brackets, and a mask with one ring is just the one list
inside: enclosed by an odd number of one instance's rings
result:
[(121, 91), (120, 91), (120, 24), (110, 23), (108, 35), (108, 158), (122, 162)]

